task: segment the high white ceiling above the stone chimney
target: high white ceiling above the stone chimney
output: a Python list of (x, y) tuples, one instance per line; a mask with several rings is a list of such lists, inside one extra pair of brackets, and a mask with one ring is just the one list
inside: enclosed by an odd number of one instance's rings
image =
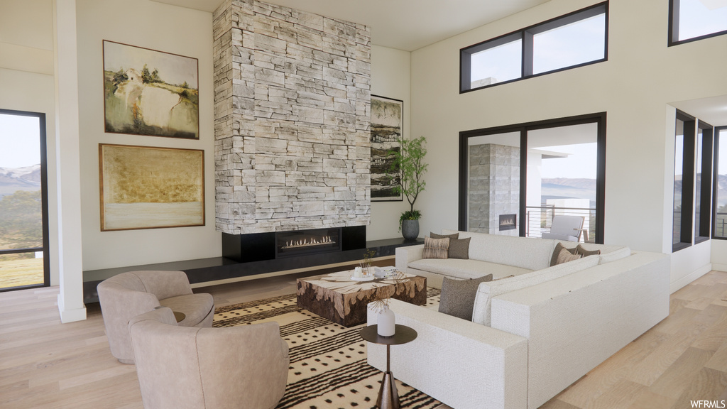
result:
[[(213, 12), (222, 0), (153, 0)], [(414, 51), (549, 0), (268, 0), (371, 27), (375, 45)]]

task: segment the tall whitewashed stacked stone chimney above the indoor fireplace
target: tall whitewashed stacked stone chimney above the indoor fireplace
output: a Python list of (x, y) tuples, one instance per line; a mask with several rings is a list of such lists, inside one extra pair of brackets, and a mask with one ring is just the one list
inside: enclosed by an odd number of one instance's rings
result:
[(254, 0), (214, 12), (216, 226), (228, 234), (370, 217), (371, 31)]

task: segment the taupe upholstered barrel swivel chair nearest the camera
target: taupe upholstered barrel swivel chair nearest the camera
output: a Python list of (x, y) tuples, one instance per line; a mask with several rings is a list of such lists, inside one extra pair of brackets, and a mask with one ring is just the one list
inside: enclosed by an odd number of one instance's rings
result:
[(288, 344), (277, 322), (177, 327), (160, 308), (129, 321), (145, 409), (272, 409), (285, 393)]

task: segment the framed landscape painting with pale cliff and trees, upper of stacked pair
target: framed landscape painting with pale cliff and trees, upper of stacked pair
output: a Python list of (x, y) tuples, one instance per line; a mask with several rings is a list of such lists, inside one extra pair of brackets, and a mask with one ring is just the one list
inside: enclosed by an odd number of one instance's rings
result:
[(105, 130), (199, 139), (198, 60), (103, 40)]

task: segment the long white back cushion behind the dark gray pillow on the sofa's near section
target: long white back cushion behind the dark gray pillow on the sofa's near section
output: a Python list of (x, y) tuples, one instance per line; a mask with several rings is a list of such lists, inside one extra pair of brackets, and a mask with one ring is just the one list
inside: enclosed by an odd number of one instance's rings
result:
[(490, 326), (491, 322), (491, 305), (492, 298), (497, 295), (510, 293), (510, 291), (521, 290), (532, 285), (538, 285), (552, 279), (573, 274), (577, 271), (590, 269), (597, 266), (600, 258), (590, 256), (580, 258), (568, 263), (558, 264), (557, 266), (548, 267), (527, 274), (501, 279), (493, 282), (482, 282), (477, 288), (475, 295), (475, 305), (472, 310), (472, 321), (478, 324)]

